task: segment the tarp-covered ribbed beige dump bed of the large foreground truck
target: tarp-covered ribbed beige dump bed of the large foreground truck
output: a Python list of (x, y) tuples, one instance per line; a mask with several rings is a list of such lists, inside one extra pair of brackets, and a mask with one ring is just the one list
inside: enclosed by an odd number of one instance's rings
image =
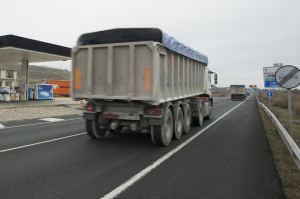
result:
[(159, 29), (125, 30), (79, 38), (72, 51), (74, 98), (160, 104), (207, 92), (205, 55), (179, 42), (168, 45), (174, 38)]

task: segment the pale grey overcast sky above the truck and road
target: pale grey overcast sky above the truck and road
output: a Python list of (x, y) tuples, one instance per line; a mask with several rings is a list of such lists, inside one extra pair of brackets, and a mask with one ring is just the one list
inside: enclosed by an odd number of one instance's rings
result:
[(299, 10), (299, 0), (9, 0), (0, 35), (74, 47), (86, 32), (158, 27), (206, 54), (220, 86), (262, 86), (262, 67), (300, 65)]

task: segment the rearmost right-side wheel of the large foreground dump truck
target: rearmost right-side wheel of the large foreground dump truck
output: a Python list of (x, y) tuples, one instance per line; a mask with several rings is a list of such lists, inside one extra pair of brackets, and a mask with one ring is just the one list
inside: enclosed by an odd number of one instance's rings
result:
[(163, 125), (151, 126), (151, 139), (153, 144), (160, 146), (168, 146), (172, 141), (173, 136), (173, 114), (170, 109), (167, 109), (162, 118)]

